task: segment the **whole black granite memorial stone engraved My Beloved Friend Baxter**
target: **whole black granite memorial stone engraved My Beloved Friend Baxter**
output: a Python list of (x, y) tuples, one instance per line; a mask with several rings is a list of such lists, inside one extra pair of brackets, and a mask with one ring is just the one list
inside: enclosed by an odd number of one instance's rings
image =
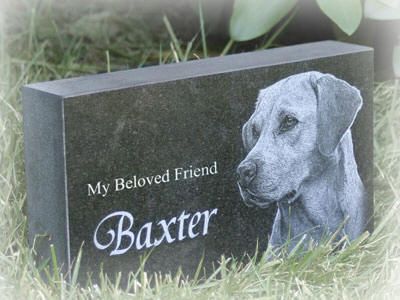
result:
[[(29, 239), (70, 266), (204, 257), (371, 227), (373, 51), (319, 42), (23, 88)], [(354, 153), (353, 153), (354, 144)], [(290, 228), (290, 224), (293, 224)]]

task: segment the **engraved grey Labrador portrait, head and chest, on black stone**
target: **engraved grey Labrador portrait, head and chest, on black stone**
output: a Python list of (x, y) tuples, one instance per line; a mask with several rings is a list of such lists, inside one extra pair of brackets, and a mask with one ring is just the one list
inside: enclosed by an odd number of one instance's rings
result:
[(262, 89), (242, 128), (246, 157), (237, 184), (248, 206), (276, 203), (268, 247), (350, 240), (367, 226), (367, 197), (351, 126), (362, 107), (357, 88), (331, 74), (296, 74)]

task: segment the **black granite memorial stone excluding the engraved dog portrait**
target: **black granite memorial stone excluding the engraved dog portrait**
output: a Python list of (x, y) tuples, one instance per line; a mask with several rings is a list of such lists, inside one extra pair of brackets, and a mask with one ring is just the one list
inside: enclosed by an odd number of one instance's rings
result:
[(372, 203), (372, 56), (322, 42), (25, 87), (30, 241), (46, 233), (39, 253), (50, 238), (67, 265), (82, 247), (83, 270), (108, 272), (149, 251), (148, 271), (191, 273), (264, 250), (276, 208), (241, 200), (241, 127), (260, 89), (310, 70), (362, 93), (353, 138)]

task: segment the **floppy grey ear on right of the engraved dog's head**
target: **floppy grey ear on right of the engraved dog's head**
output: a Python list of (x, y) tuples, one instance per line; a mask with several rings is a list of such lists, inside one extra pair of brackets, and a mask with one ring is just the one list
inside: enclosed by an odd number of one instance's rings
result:
[(360, 91), (333, 75), (312, 75), (317, 95), (317, 143), (319, 151), (330, 156), (352, 126), (362, 106)]

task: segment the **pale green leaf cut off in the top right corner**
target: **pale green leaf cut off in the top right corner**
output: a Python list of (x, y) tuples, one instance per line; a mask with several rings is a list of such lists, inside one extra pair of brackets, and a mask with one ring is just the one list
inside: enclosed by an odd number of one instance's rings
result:
[(373, 20), (399, 20), (400, 0), (366, 0), (364, 15)]

